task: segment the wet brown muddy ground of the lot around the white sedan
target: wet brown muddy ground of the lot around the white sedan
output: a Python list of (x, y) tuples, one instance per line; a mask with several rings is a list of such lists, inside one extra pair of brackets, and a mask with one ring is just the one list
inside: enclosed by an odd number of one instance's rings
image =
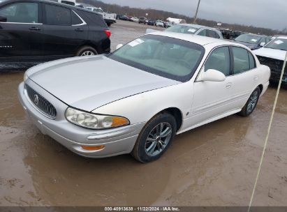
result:
[[(111, 27), (112, 49), (145, 32)], [(34, 127), (17, 100), (23, 72), (0, 74), (1, 206), (246, 206), (276, 90), (248, 118), (234, 115), (176, 137), (163, 158), (87, 159)], [(253, 205), (287, 206), (287, 90), (282, 89)]]

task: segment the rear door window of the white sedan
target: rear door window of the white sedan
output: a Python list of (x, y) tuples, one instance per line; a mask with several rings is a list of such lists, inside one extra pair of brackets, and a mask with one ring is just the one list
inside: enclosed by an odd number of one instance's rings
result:
[(234, 74), (240, 74), (249, 70), (249, 54), (241, 47), (232, 47), (234, 58)]

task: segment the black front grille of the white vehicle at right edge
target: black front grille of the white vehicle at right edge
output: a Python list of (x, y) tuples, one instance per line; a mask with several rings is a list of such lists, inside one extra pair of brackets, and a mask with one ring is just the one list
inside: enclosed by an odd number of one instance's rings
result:
[[(284, 61), (272, 59), (265, 56), (257, 56), (257, 57), (262, 65), (268, 66), (270, 68), (271, 70), (270, 80), (276, 82), (279, 81)], [(287, 66), (284, 70), (283, 82), (287, 82)]]

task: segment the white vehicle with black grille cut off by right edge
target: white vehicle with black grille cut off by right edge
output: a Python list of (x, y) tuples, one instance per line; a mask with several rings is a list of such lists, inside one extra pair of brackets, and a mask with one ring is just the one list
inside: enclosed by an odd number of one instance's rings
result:
[[(264, 47), (253, 51), (260, 63), (269, 66), (271, 69), (270, 82), (279, 82), (286, 52), (287, 36), (278, 36)], [(282, 80), (282, 84), (287, 85), (287, 66), (284, 70), (284, 77)]]

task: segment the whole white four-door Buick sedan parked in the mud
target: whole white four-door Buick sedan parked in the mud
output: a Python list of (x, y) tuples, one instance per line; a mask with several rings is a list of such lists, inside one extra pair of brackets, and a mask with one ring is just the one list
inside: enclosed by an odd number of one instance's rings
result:
[(175, 135), (231, 114), (249, 116), (270, 68), (243, 45), (156, 32), (108, 55), (27, 70), (19, 98), (46, 135), (80, 156), (160, 158)]

